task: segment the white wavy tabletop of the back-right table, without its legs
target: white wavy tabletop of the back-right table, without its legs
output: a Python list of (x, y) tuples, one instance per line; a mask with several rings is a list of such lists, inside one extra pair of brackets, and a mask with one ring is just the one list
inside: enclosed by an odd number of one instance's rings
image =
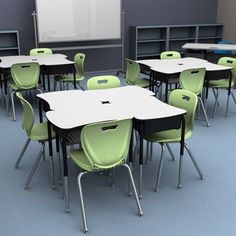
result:
[(210, 63), (206, 60), (184, 57), (180, 59), (166, 59), (166, 60), (140, 60), (138, 63), (147, 65), (151, 70), (157, 71), (164, 74), (175, 74), (180, 73), (183, 70), (194, 69), (194, 68), (206, 68), (207, 71), (219, 71), (229, 70), (231, 67), (222, 66), (214, 63)]

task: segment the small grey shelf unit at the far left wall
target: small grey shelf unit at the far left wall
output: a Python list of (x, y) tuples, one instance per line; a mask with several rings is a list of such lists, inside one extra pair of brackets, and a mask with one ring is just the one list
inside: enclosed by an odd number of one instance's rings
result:
[(20, 55), (19, 32), (0, 31), (0, 56)]

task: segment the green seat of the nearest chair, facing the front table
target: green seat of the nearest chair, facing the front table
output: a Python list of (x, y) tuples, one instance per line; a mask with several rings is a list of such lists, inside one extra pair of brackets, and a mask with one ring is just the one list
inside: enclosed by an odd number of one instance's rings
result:
[(75, 149), (70, 152), (70, 157), (72, 160), (78, 165), (80, 168), (92, 171), (93, 167), (90, 164), (88, 158), (86, 157), (84, 151), (82, 149)]

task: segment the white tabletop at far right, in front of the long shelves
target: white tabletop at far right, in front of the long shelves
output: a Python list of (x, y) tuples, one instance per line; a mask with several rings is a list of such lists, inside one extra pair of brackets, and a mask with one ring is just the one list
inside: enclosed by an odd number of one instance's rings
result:
[(212, 44), (212, 43), (186, 43), (182, 46), (183, 49), (196, 50), (236, 50), (235, 44)]

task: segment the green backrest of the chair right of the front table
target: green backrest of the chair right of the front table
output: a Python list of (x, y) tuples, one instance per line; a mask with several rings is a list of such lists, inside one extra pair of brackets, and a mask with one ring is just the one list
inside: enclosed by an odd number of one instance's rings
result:
[(187, 111), (185, 114), (185, 134), (192, 134), (198, 98), (193, 92), (176, 89), (169, 96), (169, 104)]

